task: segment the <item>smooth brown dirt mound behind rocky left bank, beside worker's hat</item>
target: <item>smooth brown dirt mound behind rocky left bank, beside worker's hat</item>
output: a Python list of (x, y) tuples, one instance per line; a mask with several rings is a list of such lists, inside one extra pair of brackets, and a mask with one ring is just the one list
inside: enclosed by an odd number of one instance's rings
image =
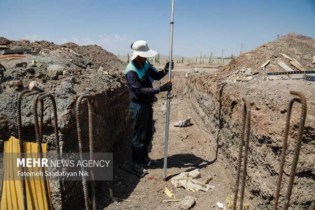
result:
[[(98, 45), (83, 45), (79, 46), (73, 42), (68, 42), (62, 44), (61, 46), (68, 47), (88, 59), (99, 68), (100, 66), (104, 67), (105, 70), (124, 70), (126, 64), (122, 62), (119, 58), (116, 57), (111, 52), (104, 50), (101, 46)], [(114, 67), (114, 69), (113, 69)]]

